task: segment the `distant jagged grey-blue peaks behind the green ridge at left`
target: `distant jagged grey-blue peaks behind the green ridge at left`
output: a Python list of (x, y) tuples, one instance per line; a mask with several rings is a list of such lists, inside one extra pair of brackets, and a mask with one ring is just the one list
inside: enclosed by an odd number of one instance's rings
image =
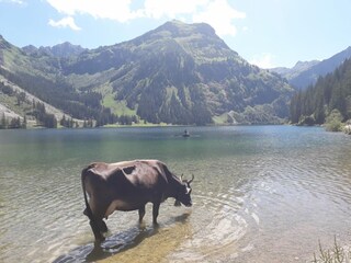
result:
[(65, 43), (55, 45), (53, 47), (41, 46), (39, 48), (36, 48), (33, 45), (29, 45), (29, 46), (22, 47), (22, 50), (29, 55), (36, 55), (36, 56), (49, 55), (54, 57), (70, 57), (70, 56), (77, 56), (88, 49), (81, 47), (80, 45), (72, 45), (69, 42), (65, 42)]

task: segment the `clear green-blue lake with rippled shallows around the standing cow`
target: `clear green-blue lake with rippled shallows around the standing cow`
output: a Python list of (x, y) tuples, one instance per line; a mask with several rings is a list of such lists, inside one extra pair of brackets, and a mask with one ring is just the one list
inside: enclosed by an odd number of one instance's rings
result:
[[(310, 262), (351, 240), (351, 136), (319, 127), (0, 130), (0, 262)], [(159, 159), (195, 180), (154, 227), (115, 211), (101, 247), (80, 172), (92, 161)]]

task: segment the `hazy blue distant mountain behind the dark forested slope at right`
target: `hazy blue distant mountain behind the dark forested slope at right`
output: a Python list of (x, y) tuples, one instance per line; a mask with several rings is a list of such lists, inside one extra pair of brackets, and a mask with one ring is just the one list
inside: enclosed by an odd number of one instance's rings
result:
[[(282, 70), (282, 68), (275, 68), (271, 70), (286, 78), (291, 85), (305, 89), (310, 84), (315, 84), (319, 77), (332, 72), (348, 58), (351, 58), (351, 46), (319, 62), (316, 60), (304, 64), (297, 62), (292, 69)], [(303, 65), (303, 67), (299, 67), (301, 65)]]

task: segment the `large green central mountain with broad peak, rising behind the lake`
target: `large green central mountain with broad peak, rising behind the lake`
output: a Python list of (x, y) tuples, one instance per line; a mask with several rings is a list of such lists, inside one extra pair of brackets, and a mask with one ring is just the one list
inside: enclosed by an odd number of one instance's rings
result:
[(287, 82), (248, 64), (204, 23), (167, 22), (69, 57), (30, 49), (0, 47), (8, 54), (0, 73), (77, 118), (97, 119), (109, 110), (149, 123), (202, 125), (276, 123), (288, 115)]

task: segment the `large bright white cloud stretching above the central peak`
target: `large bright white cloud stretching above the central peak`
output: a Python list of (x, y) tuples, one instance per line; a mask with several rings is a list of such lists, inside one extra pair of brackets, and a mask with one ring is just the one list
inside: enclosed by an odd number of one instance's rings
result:
[(95, 19), (109, 19), (125, 23), (138, 18), (178, 19), (185, 22), (211, 24), (219, 36), (235, 36), (236, 19), (246, 13), (234, 9), (228, 0), (143, 0), (144, 5), (132, 10), (132, 0), (46, 0), (58, 12), (75, 16), (88, 14)]

